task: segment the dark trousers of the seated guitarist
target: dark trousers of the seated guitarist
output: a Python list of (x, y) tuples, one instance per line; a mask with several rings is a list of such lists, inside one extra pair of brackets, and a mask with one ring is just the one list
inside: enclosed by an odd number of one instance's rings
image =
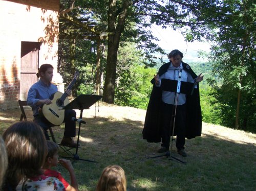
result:
[[(76, 136), (76, 122), (72, 121), (72, 117), (76, 118), (76, 112), (72, 109), (66, 109), (65, 110), (65, 117), (63, 123), (65, 123), (65, 131), (64, 136), (65, 137), (75, 137)], [(45, 117), (41, 117), (40, 115), (37, 115), (34, 117), (34, 122), (41, 126), (42, 130), (44, 130), (45, 136), (47, 140), (50, 140), (49, 135), (47, 133), (47, 130), (50, 127), (54, 127), (55, 125), (51, 124), (46, 120)]]

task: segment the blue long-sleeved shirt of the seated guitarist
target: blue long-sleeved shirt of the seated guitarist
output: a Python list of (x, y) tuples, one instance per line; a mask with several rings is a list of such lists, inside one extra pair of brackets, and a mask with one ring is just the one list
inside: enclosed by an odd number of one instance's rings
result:
[(51, 95), (58, 91), (58, 88), (54, 84), (50, 84), (49, 86), (39, 80), (34, 83), (28, 92), (27, 104), (32, 107), (33, 115), (38, 115), (38, 109), (40, 105), (36, 105), (38, 100), (50, 99)]

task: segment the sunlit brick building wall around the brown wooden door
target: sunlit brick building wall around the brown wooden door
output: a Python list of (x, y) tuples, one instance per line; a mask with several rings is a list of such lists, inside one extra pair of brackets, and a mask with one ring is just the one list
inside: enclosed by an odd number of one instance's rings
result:
[(0, 0), (0, 110), (17, 108), (21, 42), (41, 42), (39, 66), (57, 67), (59, 0)]

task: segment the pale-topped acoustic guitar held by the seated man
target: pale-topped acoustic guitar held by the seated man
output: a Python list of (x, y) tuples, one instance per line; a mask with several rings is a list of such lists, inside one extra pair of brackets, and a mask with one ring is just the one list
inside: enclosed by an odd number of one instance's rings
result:
[[(69, 84), (67, 90), (71, 90), (73, 85), (76, 83), (76, 80), (79, 76), (79, 72), (76, 71), (73, 80)], [(66, 91), (67, 91), (66, 90)], [(65, 107), (67, 104), (69, 104), (69, 99), (68, 94), (66, 93), (61, 93), (60, 91), (55, 92), (51, 98), (52, 103), (49, 105), (44, 104), (41, 108), (41, 113), (44, 115), (44, 117), (53, 125), (60, 125), (64, 121), (65, 117), (65, 110), (63, 107)]]

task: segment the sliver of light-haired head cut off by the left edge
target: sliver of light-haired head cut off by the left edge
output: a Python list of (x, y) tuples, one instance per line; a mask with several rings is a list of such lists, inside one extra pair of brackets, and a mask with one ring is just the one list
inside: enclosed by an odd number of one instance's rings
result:
[(0, 137), (0, 166), (1, 166), (1, 168), (0, 168), (0, 190), (1, 190), (5, 172), (6, 172), (6, 169), (8, 166), (5, 142), (2, 139), (2, 137)]

